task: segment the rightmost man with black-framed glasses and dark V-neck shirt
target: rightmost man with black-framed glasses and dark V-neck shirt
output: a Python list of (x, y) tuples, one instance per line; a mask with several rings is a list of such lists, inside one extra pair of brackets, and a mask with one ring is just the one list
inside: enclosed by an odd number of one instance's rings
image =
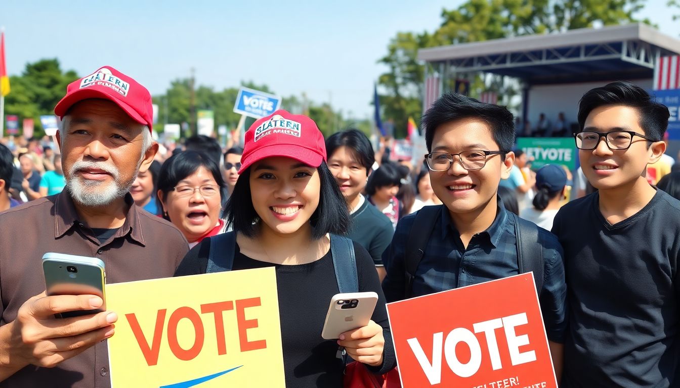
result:
[(568, 203), (569, 330), (562, 387), (677, 387), (680, 201), (647, 182), (666, 145), (668, 108), (613, 82), (583, 95), (576, 146), (598, 192)]

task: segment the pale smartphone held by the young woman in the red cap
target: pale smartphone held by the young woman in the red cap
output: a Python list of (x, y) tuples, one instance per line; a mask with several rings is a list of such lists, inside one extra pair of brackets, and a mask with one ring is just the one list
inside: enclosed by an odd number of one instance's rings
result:
[(344, 332), (368, 325), (377, 301), (378, 294), (375, 292), (335, 294), (330, 299), (322, 338), (334, 340)]

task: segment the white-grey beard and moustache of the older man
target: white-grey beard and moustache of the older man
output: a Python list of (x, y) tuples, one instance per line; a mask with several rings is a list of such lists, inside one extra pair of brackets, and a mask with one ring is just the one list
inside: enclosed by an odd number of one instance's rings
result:
[[(112, 175), (114, 181), (110, 183), (90, 181), (75, 175), (75, 172), (84, 166), (92, 166), (97, 169), (103, 169)], [(86, 207), (101, 207), (111, 205), (117, 199), (124, 198), (124, 196), (130, 191), (130, 188), (135, 182), (138, 172), (139, 166), (137, 166), (135, 173), (129, 181), (121, 182), (118, 169), (115, 169), (112, 166), (107, 166), (102, 162), (80, 161), (76, 162), (71, 167), (66, 181), (66, 189), (69, 190), (69, 194), (71, 194), (73, 201), (78, 202), (80, 205)]]

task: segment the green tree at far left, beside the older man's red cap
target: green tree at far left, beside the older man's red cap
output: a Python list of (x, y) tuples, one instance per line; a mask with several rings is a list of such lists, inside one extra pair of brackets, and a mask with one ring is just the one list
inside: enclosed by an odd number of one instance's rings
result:
[(27, 63), (21, 75), (10, 77), (12, 90), (5, 96), (5, 114), (16, 115), (20, 121), (32, 118), (35, 135), (44, 135), (40, 116), (54, 114), (54, 106), (75, 80), (78, 74), (73, 70), (63, 72), (56, 58)]

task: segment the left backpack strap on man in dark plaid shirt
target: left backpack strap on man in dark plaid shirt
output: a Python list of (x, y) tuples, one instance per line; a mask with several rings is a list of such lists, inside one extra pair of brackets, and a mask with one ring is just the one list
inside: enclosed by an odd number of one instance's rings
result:
[(425, 206), (415, 214), (413, 225), (409, 231), (409, 239), (406, 241), (404, 257), (404, 267), (406, 269), (404, 297), (406, 299), (411, 298), (413, 295), (415, 271), (418, 270), (418, 264), (420, 264), (420, 260), (422, 260), (425, 253), (428, 240), (430, 240), (430, 234), (435, 229), (435, 223), (437, 222), (437, 216), (441, 212), (441, 207), (443, 205)]

